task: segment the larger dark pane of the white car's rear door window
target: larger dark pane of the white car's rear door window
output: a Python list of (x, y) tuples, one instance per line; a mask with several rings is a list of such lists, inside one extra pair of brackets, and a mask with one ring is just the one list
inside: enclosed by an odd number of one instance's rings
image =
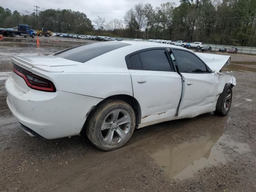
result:
[(152, 71), (171, 71), (171, 66), (164, 49), (140, 52), (142, 68)]

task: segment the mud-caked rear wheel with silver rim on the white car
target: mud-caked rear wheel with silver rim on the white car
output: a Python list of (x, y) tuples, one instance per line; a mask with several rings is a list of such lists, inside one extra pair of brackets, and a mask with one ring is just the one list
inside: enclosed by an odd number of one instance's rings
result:
[(86, 134), (94, 146), (104, 151), (124, 146), (136, 124), (134, 110), (122, 100), (106, 100), (88, 118)]

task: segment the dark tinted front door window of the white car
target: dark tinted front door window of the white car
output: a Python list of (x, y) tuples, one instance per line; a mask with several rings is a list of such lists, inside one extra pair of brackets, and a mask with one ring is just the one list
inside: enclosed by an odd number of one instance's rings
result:
[(206, 65), (194, 54), (183, 50), (172, 50), (178, 69), (183, 73), (203, 73), (207, 72)]

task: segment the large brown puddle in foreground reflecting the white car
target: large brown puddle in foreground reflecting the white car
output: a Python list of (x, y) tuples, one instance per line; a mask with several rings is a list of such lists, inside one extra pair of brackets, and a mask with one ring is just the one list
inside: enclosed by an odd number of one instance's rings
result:
[(205, 167), (225, 164), (230, 160), (225, 154), (226, 148), (239, 154), (250, 152), (248, 144), (230, 141), (227, 135), (215, 132), (192, 142), (163, 146), (150, 156), (170, 179), (182, 180), (193, 177)]

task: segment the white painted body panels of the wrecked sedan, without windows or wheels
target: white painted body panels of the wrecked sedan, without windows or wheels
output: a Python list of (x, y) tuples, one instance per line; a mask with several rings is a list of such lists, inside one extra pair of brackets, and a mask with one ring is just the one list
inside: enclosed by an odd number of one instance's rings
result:
[(146, 48), (177, 46), (141, 41), (120, 43), (130, 45), (85, 63), (54, 55), (12, 56), (14, 64), (52, 81), (56, 92), (31, 89), (13, 72), (6, 81), (10, 110), (24, 126), (53, 139), (78, 135), (90, 109), (109, 96), (124, 94), (134, 97), (140, 104), (138, 128), (142, 128), (214, 111), (225, 84), (236, 85), (232, 74), (220, 72), (229, 56), (197, 53), (214, 70), (208, 74), (128, 70), (125, 60), (128, 54)]

